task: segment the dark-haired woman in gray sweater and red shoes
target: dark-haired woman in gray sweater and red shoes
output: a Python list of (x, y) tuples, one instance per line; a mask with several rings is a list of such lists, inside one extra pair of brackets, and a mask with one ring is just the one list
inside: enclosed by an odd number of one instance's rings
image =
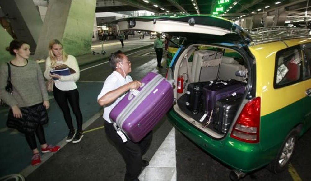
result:
[[(27, 123), (18, 125), (17, 129), (25, 134), (33, 152), (31, 165), (35, 166), (41, 162), (35, 135), (41, 144), (42, 153), (55, 152), (60, 147), (48, 145), (45, 141), (42, 124), (48, 122), (46, 109), (50, 106), (49, 98), (39, 64), (28, 60), (29, 49), (29, 44), (19, 40), (13, 40), (7, 47), (7, 51), (15, 58), (9, 64), (4, 63), (0, 67), (0, 97), (10, 106), (8, 119), (12, 121), (11, 123)], [(5, 89), (9, 73), (8, 65), (11, 69), (12, 92)], [(25, 131), (23, 127), (26, 126), (34, 131)]]

